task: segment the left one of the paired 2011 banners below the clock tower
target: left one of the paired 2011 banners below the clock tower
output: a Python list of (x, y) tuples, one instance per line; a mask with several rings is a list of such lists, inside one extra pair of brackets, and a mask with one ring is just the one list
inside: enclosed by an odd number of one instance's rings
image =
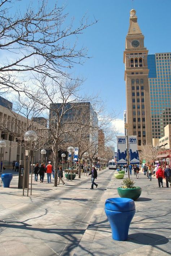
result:
[(126, 136), (117, 136), (117, 152), (118, 164), (125, 165), (127, 163)]

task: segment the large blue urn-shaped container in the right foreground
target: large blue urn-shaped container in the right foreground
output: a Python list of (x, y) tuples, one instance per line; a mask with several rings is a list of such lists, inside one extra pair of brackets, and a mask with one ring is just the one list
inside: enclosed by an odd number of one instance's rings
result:
[(105, 213), (111, 226), (112, 238), (128, 239), (128, 230), (135, 214), (135, 202), (129, 198), (109, 198), (105, 202)]

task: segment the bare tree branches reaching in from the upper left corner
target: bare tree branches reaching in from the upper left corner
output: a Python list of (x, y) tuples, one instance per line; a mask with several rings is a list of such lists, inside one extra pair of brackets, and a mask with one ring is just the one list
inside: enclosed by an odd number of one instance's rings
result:
[(97, 22), (88, 23), (84, 16), (74, 27), (73, 20), (66, 23), (65, 6), (58, 7), (55, 1), (53, 8), (45, 0), (35, 6), (30, 2), (25, 11), (19, 8), (21, 1), (0, 0), (0, 55), (6, 56), (0, 67), (1, 93), (9, 89), (31, 93), (30, 78), (38, 74), (57, 83), (70, 77), (67, 69), (87, 57), (86, 49), (78, 49), (73, 36)]

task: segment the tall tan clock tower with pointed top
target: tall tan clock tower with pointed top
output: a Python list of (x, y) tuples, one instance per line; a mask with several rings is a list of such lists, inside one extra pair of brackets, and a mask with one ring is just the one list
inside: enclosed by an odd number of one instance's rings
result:
[(152, 143), (147, 55), (144, 35), (138, 25), (136, 11), (132, 9), (124, 51), (124, 79), (128, 135), (136, 135), (139, 146)]

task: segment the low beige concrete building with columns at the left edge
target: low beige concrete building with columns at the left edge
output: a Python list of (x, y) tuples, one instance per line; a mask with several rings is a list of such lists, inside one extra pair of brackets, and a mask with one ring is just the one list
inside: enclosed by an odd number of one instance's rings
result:
[[(43, 128), (43, 132), (45, 128), (43, 125), (36, 122), (31, 123), (31, 120), (27, 120), (24, 116), (0, 105), (0, 138), (6, 142), (4, 165), (11, 166), (13, 161), (24, 159), (25, 147), (21, 145), (23, 144), (23, 131), (27, 131), (28, 123), (31, 124), (29, 129), (36, 131), (38, 136), (41, 136), (42, 131), (40, 128)], [(0, 154), (2, 153), (3, 149), (1, 148)], [(39, 160), (40, 150), (34, 153), (34, 163), (39, 162)]]

